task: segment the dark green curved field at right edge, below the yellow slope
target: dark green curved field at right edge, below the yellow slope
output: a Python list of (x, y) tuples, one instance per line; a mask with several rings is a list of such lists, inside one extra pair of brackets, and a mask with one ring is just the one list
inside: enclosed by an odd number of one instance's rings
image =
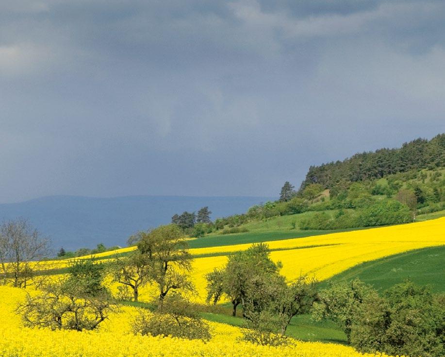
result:
[[(366, 262), (335, 275), (329, 281), (359, 278), (384, 290), (411, 279), (428, 285), (434, 292), (445, 292), (445, 246), (409, 251)], [(323, 285), (326, 286), (326, 283)]]

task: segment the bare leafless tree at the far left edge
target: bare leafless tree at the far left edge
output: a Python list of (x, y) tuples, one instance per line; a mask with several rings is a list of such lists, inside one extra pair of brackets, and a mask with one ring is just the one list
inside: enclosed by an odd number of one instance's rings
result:
[(49, 242), (49, 238), (43, 237), (23, 218), (4, 222), (0, 226), (3, 283), (16, 288), (26, 288), (32, 284), (36, 272), (45, 265), (40, 260), (50, 254)]

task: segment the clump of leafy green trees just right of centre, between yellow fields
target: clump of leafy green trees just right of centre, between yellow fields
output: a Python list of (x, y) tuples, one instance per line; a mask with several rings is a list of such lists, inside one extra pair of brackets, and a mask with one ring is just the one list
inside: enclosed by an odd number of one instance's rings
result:
[(224, 268), (206, 275), (207, 302), (216, 304), (225, 295), (236, 307), (243, 306), (246, 320), (244, 339), (259, 344), (282, 344), (291, 319), (308, 312), (317, 299), (317, 281), (300, 276), (287, 284), (279, 270), (281, 263), (269, 257), (266, 244), (253, 244), (247, 251), (229, 256)]

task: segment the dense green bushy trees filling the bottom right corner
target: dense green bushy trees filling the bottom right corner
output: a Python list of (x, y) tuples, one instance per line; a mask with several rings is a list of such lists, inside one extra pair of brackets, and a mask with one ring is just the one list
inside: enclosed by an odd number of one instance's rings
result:
[(411, 281), (363, 304), (351, 342), (364, 352), (441, 357), (445, 354), (445, 305)]

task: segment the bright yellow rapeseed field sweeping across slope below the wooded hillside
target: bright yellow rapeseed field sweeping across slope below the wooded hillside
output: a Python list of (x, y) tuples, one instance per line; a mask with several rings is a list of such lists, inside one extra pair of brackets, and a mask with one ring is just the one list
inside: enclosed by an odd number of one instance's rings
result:
[[(445, 245), (445, 217), (389, 227), (276, 240), (267, 244), (274, 250), (272, 259), (283, 263), (281, 273), (289, 280), (296, 279), (300, 273), (324, 280), (366, 261), (412, 249)], [(226, 254), (245, 250), (249, 246), (239, 244), (190, 250), (193, 255), (223, 254), (194, 261), (193, 279), (202, 298), (205, 297), (205, 274), (214, 267), (224, 265)]]

